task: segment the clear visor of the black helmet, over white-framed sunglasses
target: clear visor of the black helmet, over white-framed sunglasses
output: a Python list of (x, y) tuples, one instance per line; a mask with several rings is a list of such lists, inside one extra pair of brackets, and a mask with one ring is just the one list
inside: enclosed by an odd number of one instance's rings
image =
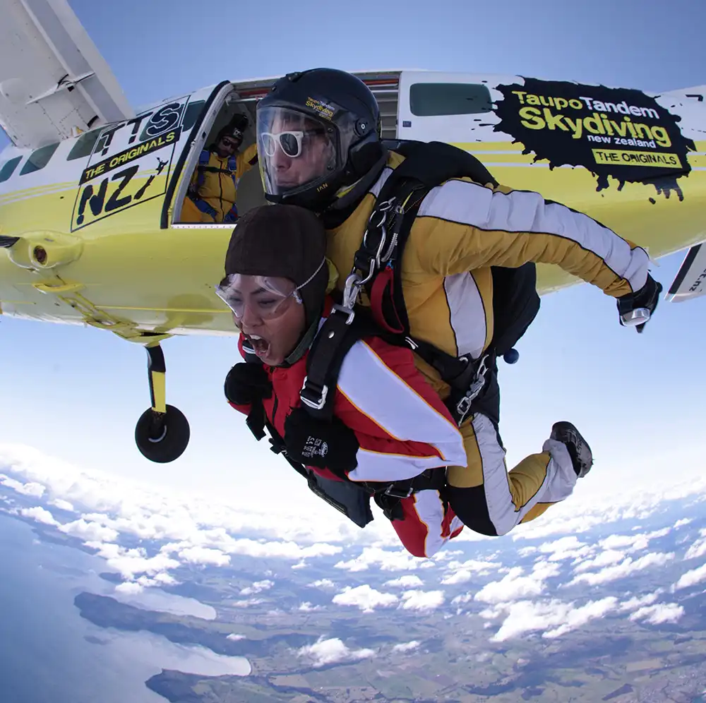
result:
[(257, 113), (258, 162), (265, 193), (284, 195), (325, 179), (340, 166), (337, 128), (286, 107)]

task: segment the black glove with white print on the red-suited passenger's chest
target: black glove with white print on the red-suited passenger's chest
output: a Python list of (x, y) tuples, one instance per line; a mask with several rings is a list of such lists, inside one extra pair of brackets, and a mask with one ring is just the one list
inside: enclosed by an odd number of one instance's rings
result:
[(360, 445), (354, 431), (336, 417), (316, 420), (304, 408), (295, 408), (285, 420), (287, 456), (300, 464), (329, 469), (345, 476), (357, 467)]

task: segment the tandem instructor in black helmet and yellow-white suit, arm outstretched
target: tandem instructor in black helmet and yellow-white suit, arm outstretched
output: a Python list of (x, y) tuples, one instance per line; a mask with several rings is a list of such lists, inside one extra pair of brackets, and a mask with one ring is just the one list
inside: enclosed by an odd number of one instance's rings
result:
[[(364, 252), (361, 242), (379, 205), (376, 198), (405, 162), (401, 148), (388, 150), (383, 144), (375, 97), (344, 71), (289, 74), (258, 102), (256, 114), (265, 198), (301, 205), (321, 217), (328, 230), (328, 258), (342, 273), (337, 288), (345, 292), (356, 254)], [(401, 264), (391, 267), (390, 258), (388, 268), (398, 269), (411, 337), (446, 356), (470, 359), (477, 369), (465, 377), (467, 390), (461, 389), (470, 404), (453, 406), (466, 461), (449, 467), (446, 495), (467, 527), (496, 536), (566, 498), (576, 476), (589, 471), (592, 457), (576, 428), (560, 424), (541, 452), (522, 459), (508, 474), (491, 347), (498, 296), (493, 270), (531, 262), (561, 266), (617, 299), (621, 324), (628, 319), (623, 315), (638, 308), (654, 312), (662, 286), (648, 273), (645, 250), (608, 227), (539, 193), (482, 180), (447, 178), (429, 191), (412, 222)], [(385, 208), (388, 196), (381, 195)], [(386, 216), (383, 209), (375, 212)], [(374, 259), (373, 251), (366, 265)], [(371, 289), (366, 292), (370, 298)], [(643, 328), (638, 326), (638, 332)], [(415, 354), (418, 368), (441, 397), (450, 398), (458, 377), (439, 371), (421, 349)]]

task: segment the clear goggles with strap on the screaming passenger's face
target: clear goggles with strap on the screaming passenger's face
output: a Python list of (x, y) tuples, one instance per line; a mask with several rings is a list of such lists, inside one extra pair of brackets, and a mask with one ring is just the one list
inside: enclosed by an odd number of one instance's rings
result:
[(281, 278), (231, 274), (215, 287), (216, 295), (230, 308), (237, 320), (250, 308), (260, 320), (273, 320), (283, 315), (292, 304), (302, 304), (299, 291), (308, 285), (321, 270), (325, 258), (300, 286)]

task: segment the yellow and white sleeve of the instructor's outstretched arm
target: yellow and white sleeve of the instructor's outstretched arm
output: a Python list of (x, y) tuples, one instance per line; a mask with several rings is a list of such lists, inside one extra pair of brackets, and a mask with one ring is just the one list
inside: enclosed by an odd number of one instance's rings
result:
[(447, 181), (424, 198), (409, 244), (420, 268), (434, 275), (534, 261), (561, 266), (616, 297), (640, 289), (650, 264), (642, 247), (582, 212), (469, 179)]

